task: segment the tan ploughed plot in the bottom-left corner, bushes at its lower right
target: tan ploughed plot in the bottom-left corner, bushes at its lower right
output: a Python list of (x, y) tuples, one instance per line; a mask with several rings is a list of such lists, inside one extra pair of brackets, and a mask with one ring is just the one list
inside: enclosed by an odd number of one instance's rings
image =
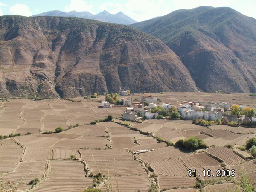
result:
[(3, 176), (3, 180), (14, 183), (18, 190), (28, 191), (31, 185), (29, 182), (35, 178), (41, 178), (46, 171), (44, 161), (21, 162), (15, 171), (9, 172)]

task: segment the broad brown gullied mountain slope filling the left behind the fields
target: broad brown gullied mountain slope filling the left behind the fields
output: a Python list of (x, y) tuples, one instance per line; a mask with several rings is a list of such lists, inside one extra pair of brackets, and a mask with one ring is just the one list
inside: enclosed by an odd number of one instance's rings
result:
[(0, 98), (196, 91), (162, 41), (129, 26), (75, 17), (0, 17)]

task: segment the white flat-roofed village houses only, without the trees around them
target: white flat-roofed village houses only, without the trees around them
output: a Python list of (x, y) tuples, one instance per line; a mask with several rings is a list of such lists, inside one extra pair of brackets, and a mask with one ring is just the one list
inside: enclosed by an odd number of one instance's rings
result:
[[(119, 94), (126, 95), (125, 91), (120, 91)], [(123, 102), (127, 108), (123, 113), (123, 119), (129, 121), (142, 122), (143, 117), (145, 119), (155, 119), (158, 113), (151, 113), (151, 109), (157, 107), (157, 98), (151, 95), (143, 95), (141, 101), (134, 101), (131, 98), (121, 98), (119, 101)], [(144, 103), (148, 103), (148, 106), (144, 106)], [(171, 109), (172, 104), (162, 103), (162, 108)], [(102, 101), (102, 107), (111, 107), (106, 101)], [(243, 109), (246, 105), (240, 105)], [(237, 121), (238, 116), (224, 114), (224, 111), (231, 110), (231, 104), (229, 102), (197, 102), (197, 101), (184, 101), (180, 103), (178, 107), (180, 116), (182, 119), (193, 120), (193, 119), (204, 119), (215, 121), (226, 117), (228, 121)], [(256, 121), (256, 117), (251, 118), (252, 121)]]

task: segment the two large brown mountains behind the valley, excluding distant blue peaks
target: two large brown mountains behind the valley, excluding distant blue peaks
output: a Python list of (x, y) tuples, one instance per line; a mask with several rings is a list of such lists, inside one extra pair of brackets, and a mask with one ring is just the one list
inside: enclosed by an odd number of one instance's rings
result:
[(182, 9), (131, 26), (1, 16), (0, 98), (120, 89), (255, 93), (255, 50), (256, 20), (227, 7)]

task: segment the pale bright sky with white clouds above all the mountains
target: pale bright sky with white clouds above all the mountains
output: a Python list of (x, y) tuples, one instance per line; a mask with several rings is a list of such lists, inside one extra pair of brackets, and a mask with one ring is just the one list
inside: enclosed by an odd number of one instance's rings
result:
[(112, 14), (122, 11), (136, 21), (143, 21), (199, 6), (231, 7), (256, 18), (256, 0), (0, 0), (0, 15), (31, 16), (52, 10), (97, 14), (107, 10)]

